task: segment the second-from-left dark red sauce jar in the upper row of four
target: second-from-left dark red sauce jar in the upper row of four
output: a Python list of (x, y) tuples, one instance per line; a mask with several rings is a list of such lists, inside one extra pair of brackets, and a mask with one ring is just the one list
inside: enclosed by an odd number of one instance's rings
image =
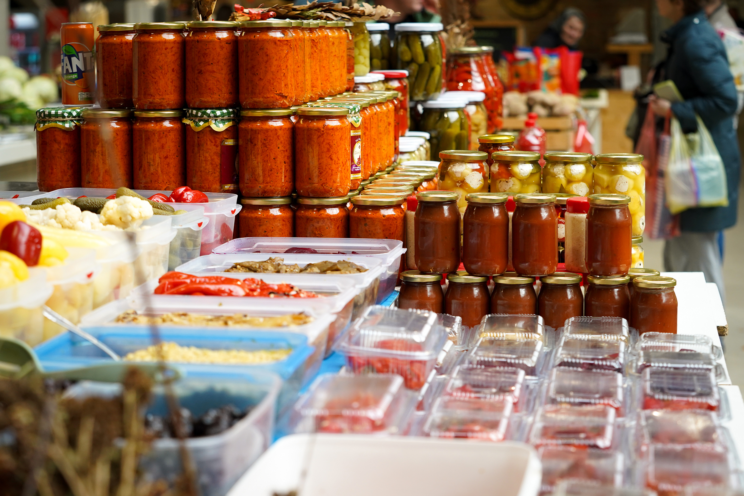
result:
[(490, 276), (507, 269), (509, 214), (506, 193), (469, 193), (463, 216), (463, 265), (469, 274)]

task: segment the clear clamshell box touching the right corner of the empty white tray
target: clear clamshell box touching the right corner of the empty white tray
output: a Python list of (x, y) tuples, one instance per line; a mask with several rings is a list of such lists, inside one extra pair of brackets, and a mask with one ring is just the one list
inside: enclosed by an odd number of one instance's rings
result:
[(606, 486), (623, 483), (625, 459), (620, 451), (543, 446), (537, 456), (542, 461), (542, 492), (552, 492), (562, 480), (583, 480)]

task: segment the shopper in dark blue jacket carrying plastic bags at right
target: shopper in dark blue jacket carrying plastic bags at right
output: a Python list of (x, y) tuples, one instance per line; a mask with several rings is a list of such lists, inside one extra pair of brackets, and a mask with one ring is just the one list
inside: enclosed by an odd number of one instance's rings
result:
[(704, 0), (656, 0), (661, 16), (676, 22), (662, 36), (669, 44), (664, 77), (673, 80), (684, 101), (650, 97), (656, 115), (671, 109), (682, 131), (695, 132), (699, 115), (711, 132), (726, 170), (728, 206), (691, 208), (680, 214), (681, 236), (664, 245), (667, 271), (702, 271), (725, 297), (722, 274), (722, 230), (737, 223), (740, 155), (734, 115), (737, 89), (716, 30), (708, 23)]

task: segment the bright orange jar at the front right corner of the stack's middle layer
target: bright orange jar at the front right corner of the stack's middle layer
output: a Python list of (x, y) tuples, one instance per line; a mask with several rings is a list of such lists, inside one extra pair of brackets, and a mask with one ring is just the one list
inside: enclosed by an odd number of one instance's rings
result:
[(349, 109), (298, 109), (295, 189), (308, 198), (345, 196), (351, 188)]

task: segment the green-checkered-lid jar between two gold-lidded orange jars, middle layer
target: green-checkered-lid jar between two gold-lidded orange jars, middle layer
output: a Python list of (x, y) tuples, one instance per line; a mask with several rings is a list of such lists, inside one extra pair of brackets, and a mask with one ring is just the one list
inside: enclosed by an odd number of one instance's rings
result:
[(186, 109), (186, 185), (205, 193), (238, 193), (237, 109)]

